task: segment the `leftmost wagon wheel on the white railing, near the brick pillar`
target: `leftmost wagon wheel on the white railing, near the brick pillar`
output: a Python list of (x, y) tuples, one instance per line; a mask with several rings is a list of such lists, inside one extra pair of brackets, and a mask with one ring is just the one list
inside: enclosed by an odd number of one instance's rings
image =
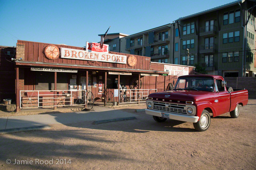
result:
[(23, 107), (35, 107), (38, 106), (38, 95), (34, 91), (31, 92), (25, 91), (21, 95), (21, 104)]

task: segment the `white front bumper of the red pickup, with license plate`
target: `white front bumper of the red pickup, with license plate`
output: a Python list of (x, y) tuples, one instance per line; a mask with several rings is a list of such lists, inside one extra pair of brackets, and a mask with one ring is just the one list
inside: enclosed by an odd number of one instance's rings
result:
[(157, 110), (152, 110), (152, 109), (145, 109), (145, 112), (148, 115), (153, 115), (153, 116), (158, 116), (158, 117), (162, 117), (161, 113), (165, 113), (165, 114), (170, 115), (169, 119), (186, 121), (186, 122), (191, 122), (191, 123), (196, 123), (199, 119), (198, 116), (174, 114), (174, 113), (162, 112), (162, 111), (157, 111)]

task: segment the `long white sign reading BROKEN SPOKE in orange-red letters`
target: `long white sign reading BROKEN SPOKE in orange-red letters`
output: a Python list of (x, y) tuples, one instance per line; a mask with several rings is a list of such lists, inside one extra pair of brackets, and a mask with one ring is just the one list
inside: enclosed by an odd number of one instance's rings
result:
[(61, 47), (61, 58), (89, 60), (98, 62), (109, 62), (126, 64), (126, 55), (108, 54), (102, 52), (89, 52), (85, 50), (68, 49)]

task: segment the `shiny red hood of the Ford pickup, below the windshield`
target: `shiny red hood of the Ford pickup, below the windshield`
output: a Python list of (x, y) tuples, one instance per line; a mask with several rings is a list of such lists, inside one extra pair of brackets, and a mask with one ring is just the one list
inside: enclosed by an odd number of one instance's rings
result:
[[(170, 95), (169, 97), (165, 97)], [(199, 101), (204, 99), (214, 98), (214, 93), (210, 91), (196, 91), (196, 90), (169, 90), (149, 94), (149, 97), (162, 99), (175, 99), (185, 101)]]

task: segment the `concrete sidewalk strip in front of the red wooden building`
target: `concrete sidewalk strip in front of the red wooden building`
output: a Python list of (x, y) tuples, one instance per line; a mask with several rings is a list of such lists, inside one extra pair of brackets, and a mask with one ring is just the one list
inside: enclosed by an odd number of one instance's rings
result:
[(95, 106), (94, 111), (87, 112), (0, 117), (0, 130), (50, 124), (69, 124), (83, 121), (93, 122), (97, 120), (117, 119), (133, 116), (138, 115), (112, 108)]

